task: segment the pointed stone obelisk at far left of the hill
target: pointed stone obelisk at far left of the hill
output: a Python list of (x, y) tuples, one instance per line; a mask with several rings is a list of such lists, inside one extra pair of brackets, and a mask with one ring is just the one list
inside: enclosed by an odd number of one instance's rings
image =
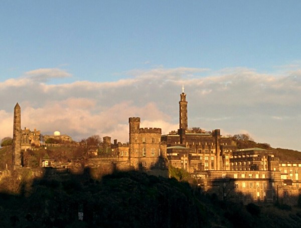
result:
[(14, 108), (14, 129), (13, 129), (13, 160), (14, 169), (22, 167), (21, 162), (21, 107), (19, 103)]

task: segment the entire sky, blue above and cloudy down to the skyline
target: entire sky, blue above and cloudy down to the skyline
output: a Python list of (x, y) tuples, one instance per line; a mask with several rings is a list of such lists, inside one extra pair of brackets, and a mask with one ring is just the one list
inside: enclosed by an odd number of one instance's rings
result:
[(301, 1), (2, 0), (0, 139), (22, 128), (128, 141), (141, 127), (248, 133), (301, 151)]

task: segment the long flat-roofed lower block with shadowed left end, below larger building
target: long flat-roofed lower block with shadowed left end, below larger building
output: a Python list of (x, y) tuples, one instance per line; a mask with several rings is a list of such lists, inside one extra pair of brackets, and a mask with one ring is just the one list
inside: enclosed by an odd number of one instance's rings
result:
[(207, 171), (194, 173), (199, 185), (219, 199), (248, 202), (274, 202), (277, 186), (281, 185), (279, 171)]

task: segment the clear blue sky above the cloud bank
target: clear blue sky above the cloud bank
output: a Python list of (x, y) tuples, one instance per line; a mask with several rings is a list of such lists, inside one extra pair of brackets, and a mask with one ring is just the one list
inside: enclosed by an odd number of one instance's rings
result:
[[(135, 68), (250, 67), (299, 59), (301, 2), (2, 1), (1, 77), (61, 67), (70, 80)], [(56, 83), (56, 81), (53, 81)]]

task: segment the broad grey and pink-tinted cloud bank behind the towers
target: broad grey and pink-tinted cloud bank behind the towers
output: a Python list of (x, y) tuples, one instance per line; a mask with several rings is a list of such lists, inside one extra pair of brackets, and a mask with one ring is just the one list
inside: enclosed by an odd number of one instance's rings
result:
[(188, 125), (223, 135), (248, 132), (273, 147), (298, 149), (301, 124), (301, 69), (265, 74), (248, 68), (155, 68), (131, 70), (113, 82), (74, 81), (56, 69), (36, 69), (26, 77), (0, 82), (0, 138), (12, 136), (13, 110), (22, 109), (22, 128), (43, 134), (60, 130), (75, 140), (93, 134), (128, 141), (128, 117), (141, 117), (141, 127), (178, 129), (182, 84), (188, 100)]

